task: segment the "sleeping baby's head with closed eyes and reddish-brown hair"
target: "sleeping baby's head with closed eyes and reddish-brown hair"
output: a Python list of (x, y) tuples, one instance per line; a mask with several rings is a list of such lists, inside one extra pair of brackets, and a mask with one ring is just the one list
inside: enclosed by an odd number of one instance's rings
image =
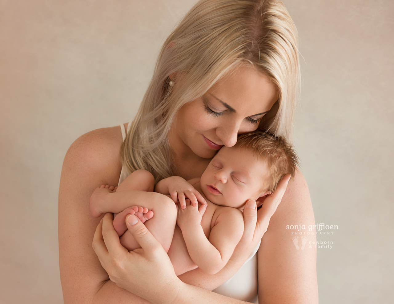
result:
[(261, 131), (242, 134), (233, 147), (222, 147), (201, 176), (206, 198), (220, 206), (243, 208), (249, 199), (261, 205), (285, 174), (294, 176), (298, 159), (282, 138)]

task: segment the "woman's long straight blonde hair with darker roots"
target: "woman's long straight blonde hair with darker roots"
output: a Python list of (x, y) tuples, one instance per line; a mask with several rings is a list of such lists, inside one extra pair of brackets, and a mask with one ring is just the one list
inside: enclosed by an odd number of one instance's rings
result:
[[(167, 139), (178, 110), (240, 65), (275, 83), (279, 99), (259, 129), (292, 140), (299, 85), (297, 33), (278, 0), (201, 0), (169, 35), (123, 145), (129, 173), (145, 169), (155, 181), (173, 175)], [(169, 86), (169, 75), (182, 77)], [(275, 112), (276, 111), (276, 112)]]

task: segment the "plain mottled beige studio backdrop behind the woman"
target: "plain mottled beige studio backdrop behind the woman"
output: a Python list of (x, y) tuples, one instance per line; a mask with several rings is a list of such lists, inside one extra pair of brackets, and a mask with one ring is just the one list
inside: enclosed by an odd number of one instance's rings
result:
[[(63, 157), (81, 134), (133, 117), (193, 2), (0, 0), (0, 303), (63, 302)], [(295, 145), (316, 223), (338, 225), (318, 250), (320, 303), (389, 303), (394, 2), (285, 4), (303, 56)]]

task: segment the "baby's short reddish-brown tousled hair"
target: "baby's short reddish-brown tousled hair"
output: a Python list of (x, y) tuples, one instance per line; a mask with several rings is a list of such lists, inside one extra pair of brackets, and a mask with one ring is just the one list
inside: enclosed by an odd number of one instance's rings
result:
[(264, 181), (262, 191), (273, 192), (286, 174), (294, 177), (299, 164), (296, 152), (286, 140), (264, 131), (253, 131), (238, 136), (234, 147), (251, 150), (258, 159), (264, 159), (267, 162), (270, 174)]

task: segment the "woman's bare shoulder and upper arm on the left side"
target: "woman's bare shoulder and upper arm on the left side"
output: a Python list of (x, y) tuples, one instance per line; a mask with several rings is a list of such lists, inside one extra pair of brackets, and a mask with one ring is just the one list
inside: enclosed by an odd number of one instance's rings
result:
[(65, 303), (148, 303), (111, 282), (91, 247), (100, 218), (91, 216), (89, 198), (97, 186), (118, 183), (121, 143), (119, 127), (99, 129), (78, 138), (65, 156), (58, 230)]

